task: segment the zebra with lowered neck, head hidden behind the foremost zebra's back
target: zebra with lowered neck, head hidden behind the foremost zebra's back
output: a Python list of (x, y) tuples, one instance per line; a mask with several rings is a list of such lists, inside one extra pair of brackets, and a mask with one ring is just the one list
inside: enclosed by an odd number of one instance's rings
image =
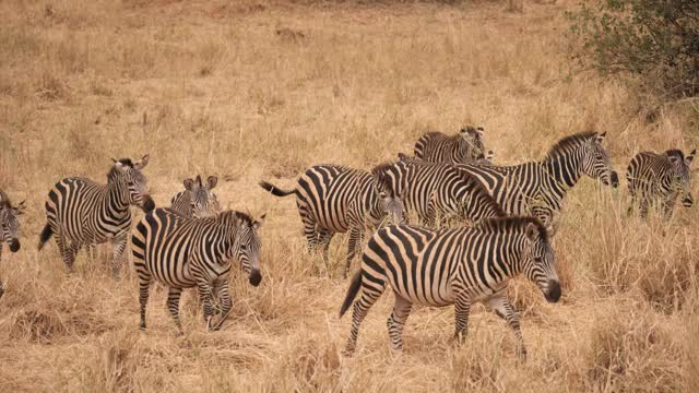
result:
[(505, 215), (478, 180), (452, 165), (399, 157), (402, 159), (379, 165), (375, 172), (403, 196), (406, 210), (422, 225), (439, 226), (451, 218), (475, 223)]

